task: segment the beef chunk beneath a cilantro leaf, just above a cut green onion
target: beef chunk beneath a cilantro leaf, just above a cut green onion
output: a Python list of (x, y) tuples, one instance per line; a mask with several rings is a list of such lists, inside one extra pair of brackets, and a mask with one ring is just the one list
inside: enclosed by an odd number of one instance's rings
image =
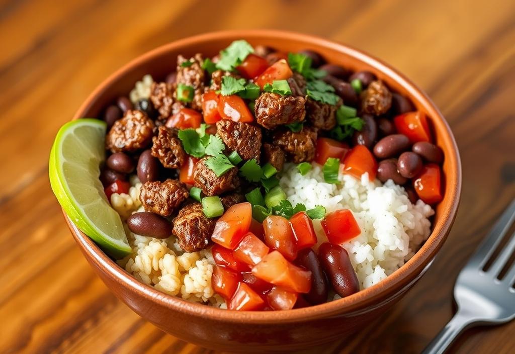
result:
[(233, 167), (218, 177), (205, 164), (208, 158), (201, 158), (195, 165), (195, 171), (193, 172), (195, 187), (202, 189), (206, 196), (218, 196), (221, 193), (236, 189), (239, 186), (238, 169)]

